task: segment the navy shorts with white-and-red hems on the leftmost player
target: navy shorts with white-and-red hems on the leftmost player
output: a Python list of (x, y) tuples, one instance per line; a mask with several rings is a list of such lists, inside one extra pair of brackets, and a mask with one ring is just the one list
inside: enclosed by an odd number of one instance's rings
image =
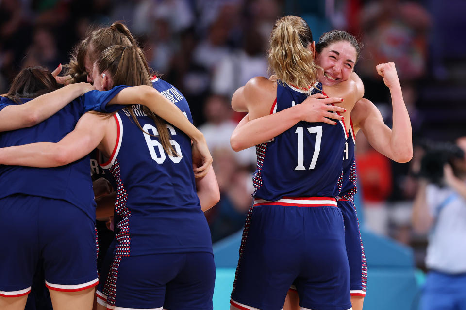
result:
[(51, 290), (97, 285), (94, 221), (73, 204), (12, 195), (0, 199), (0, 296), (29, 294), (38, 262)]

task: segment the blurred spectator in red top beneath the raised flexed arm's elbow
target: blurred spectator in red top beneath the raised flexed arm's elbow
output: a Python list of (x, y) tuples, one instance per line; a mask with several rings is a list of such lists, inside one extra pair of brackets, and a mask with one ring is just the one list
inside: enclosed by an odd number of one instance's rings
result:
[(356, 164), (364, 202), (365, 223), (374, 233), (386, 235), (386, 200), (392, 190), (390, 159), (374, 150), (362, 133), (356, 136), (356, 145)]

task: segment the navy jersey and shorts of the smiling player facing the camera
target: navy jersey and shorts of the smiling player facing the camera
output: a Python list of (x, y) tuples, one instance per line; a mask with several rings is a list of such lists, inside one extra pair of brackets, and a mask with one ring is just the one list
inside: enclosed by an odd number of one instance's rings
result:
[(359, 221), (354, 206), (356, 194), (356, 161), (354, 157), (354, 131), (350, 120), (350, 135), (346, 141), (343, 155), (343, 176), (341, 178), (341, 192), (338, 207), (345, 221), (345, 242), (350, 263), (350, 294), (351, 296), (365, 296), (367, 283), (367, 263), (364, 246), (359, 232)]

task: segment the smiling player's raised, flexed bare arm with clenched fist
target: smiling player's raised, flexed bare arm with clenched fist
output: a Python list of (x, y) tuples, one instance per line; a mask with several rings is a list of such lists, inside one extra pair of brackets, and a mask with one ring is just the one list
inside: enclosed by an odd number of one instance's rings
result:
[(397, 162), (413, 157), (411, 122), (404, 104), (398, 75), (393, 62), (377, 66), (377, 71), (390, 89), (393, 107), (393, 129), (383, 123), (382, 115), (367, 99), (359, 100), (351, 111), (355, 131), (362, 129), (369, 143), (379, 153)]

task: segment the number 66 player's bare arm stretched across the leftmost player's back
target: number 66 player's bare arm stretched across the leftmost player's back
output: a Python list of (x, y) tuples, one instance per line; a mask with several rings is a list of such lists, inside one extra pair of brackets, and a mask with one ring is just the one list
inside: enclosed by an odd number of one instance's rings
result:
[(38, 142), (0, 149), (0, 164), (57, 167), (83, 158), (103, 140), (108, 118), (86, 113), (75, 129), (57, 143)]

